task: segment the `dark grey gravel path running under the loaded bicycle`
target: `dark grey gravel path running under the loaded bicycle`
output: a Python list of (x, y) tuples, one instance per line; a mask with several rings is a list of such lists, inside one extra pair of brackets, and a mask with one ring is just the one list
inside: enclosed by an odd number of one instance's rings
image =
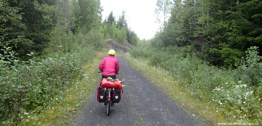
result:
[[(110, 107), (110, 116), (106, 114), (106, 106), (96, 100), (96, 90), (81, 109), (71, 125), (77, 126), (199, 126), (206, 125), (191, 116), (178, 106), (160, 88), (133, 69), (123, 57), (116, 55), (120, 64), (117, 78), (123, 80), (123, 94), (120, 103)], [(97, 69), (98, 71), (98, 69)], [(100, 78), (101, 79), (101, 78)], [(98, 83), (100, 82), (98, 80)], [(98, 86), (99, 84), (97, 84)]]

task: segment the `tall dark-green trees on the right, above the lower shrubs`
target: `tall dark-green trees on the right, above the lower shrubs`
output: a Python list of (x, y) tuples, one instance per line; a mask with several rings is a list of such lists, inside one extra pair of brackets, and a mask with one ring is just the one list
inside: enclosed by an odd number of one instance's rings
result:
[(155, 13), (163, 15), (163, 21), (151, 45), (184, 47), (212, 65), (228, 68), (250, 46), (261, 47), (261, 4), (260, 0), (158, 1)]

